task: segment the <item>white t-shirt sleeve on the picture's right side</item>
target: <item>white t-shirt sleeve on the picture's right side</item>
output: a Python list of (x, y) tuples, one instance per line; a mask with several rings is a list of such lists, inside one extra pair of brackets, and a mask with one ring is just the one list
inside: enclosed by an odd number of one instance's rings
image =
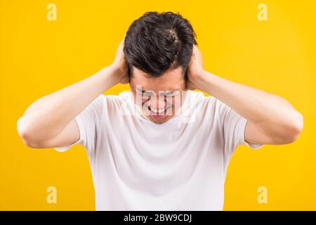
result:
[(245, 141), (246, 118), (236, 113), (225, 103), (217, 101), (220, 122), (223, 127), (225, 152), (231, 155), (239, 145), (246, 145), (254, 149), (262, 148), (263, 144), (251, 144)]

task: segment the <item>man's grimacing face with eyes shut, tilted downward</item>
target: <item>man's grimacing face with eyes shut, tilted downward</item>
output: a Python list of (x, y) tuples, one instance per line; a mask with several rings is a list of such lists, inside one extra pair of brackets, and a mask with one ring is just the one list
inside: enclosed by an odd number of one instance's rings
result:
[(185, 99), (183, 69), (169, 70), (160, 77), (149, 77), (134, 67), (132, 70), (130, 89), (143, 115), (157, 124), (170, 120)]

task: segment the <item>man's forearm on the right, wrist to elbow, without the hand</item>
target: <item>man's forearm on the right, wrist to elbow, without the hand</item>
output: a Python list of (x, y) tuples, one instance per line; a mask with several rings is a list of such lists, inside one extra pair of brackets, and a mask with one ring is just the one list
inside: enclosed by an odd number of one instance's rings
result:
[(301, 129), (301, 113), (284, 98), (205, 72), (199, 76), (199, 89), (230, 106), (267, 135), (282, 135)]

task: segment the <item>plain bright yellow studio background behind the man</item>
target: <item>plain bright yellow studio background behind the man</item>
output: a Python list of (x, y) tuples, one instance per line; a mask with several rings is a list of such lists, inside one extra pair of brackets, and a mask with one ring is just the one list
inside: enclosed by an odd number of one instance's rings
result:
[[(57, 21), (46, 19), (50, 3)], [(257, 18), (261, 3), (268, 21)], [(294, 143), (237, 148), (224, 210), (316, 210), (315, 8), (315, 1), (1, 0), (0, 210), (95, 210), (84, 148), (28, 148), (16, 122), (41, 96), (109, 65), (124, 32), (146, 11), (181, 13), (197, 33), (206, 70), (282, 96), (304, 115)], [(46, 203), (48, 186), (57, 188), (56, 204)], [(268, 188), (268, 204), (257, 202), (259, 186)]]

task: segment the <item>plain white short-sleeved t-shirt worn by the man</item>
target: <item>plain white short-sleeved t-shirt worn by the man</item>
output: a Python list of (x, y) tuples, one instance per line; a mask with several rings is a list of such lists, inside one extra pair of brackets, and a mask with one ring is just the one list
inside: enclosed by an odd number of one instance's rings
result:
[[(101, 94), (75, 120), (93, 174), (96, 210), (223, 210), (224, 182), (247, 120), (202, 92), (164, 124), (135, 113), (130, 91)], [(55, 148), (65, 151), (71, 146)]]

